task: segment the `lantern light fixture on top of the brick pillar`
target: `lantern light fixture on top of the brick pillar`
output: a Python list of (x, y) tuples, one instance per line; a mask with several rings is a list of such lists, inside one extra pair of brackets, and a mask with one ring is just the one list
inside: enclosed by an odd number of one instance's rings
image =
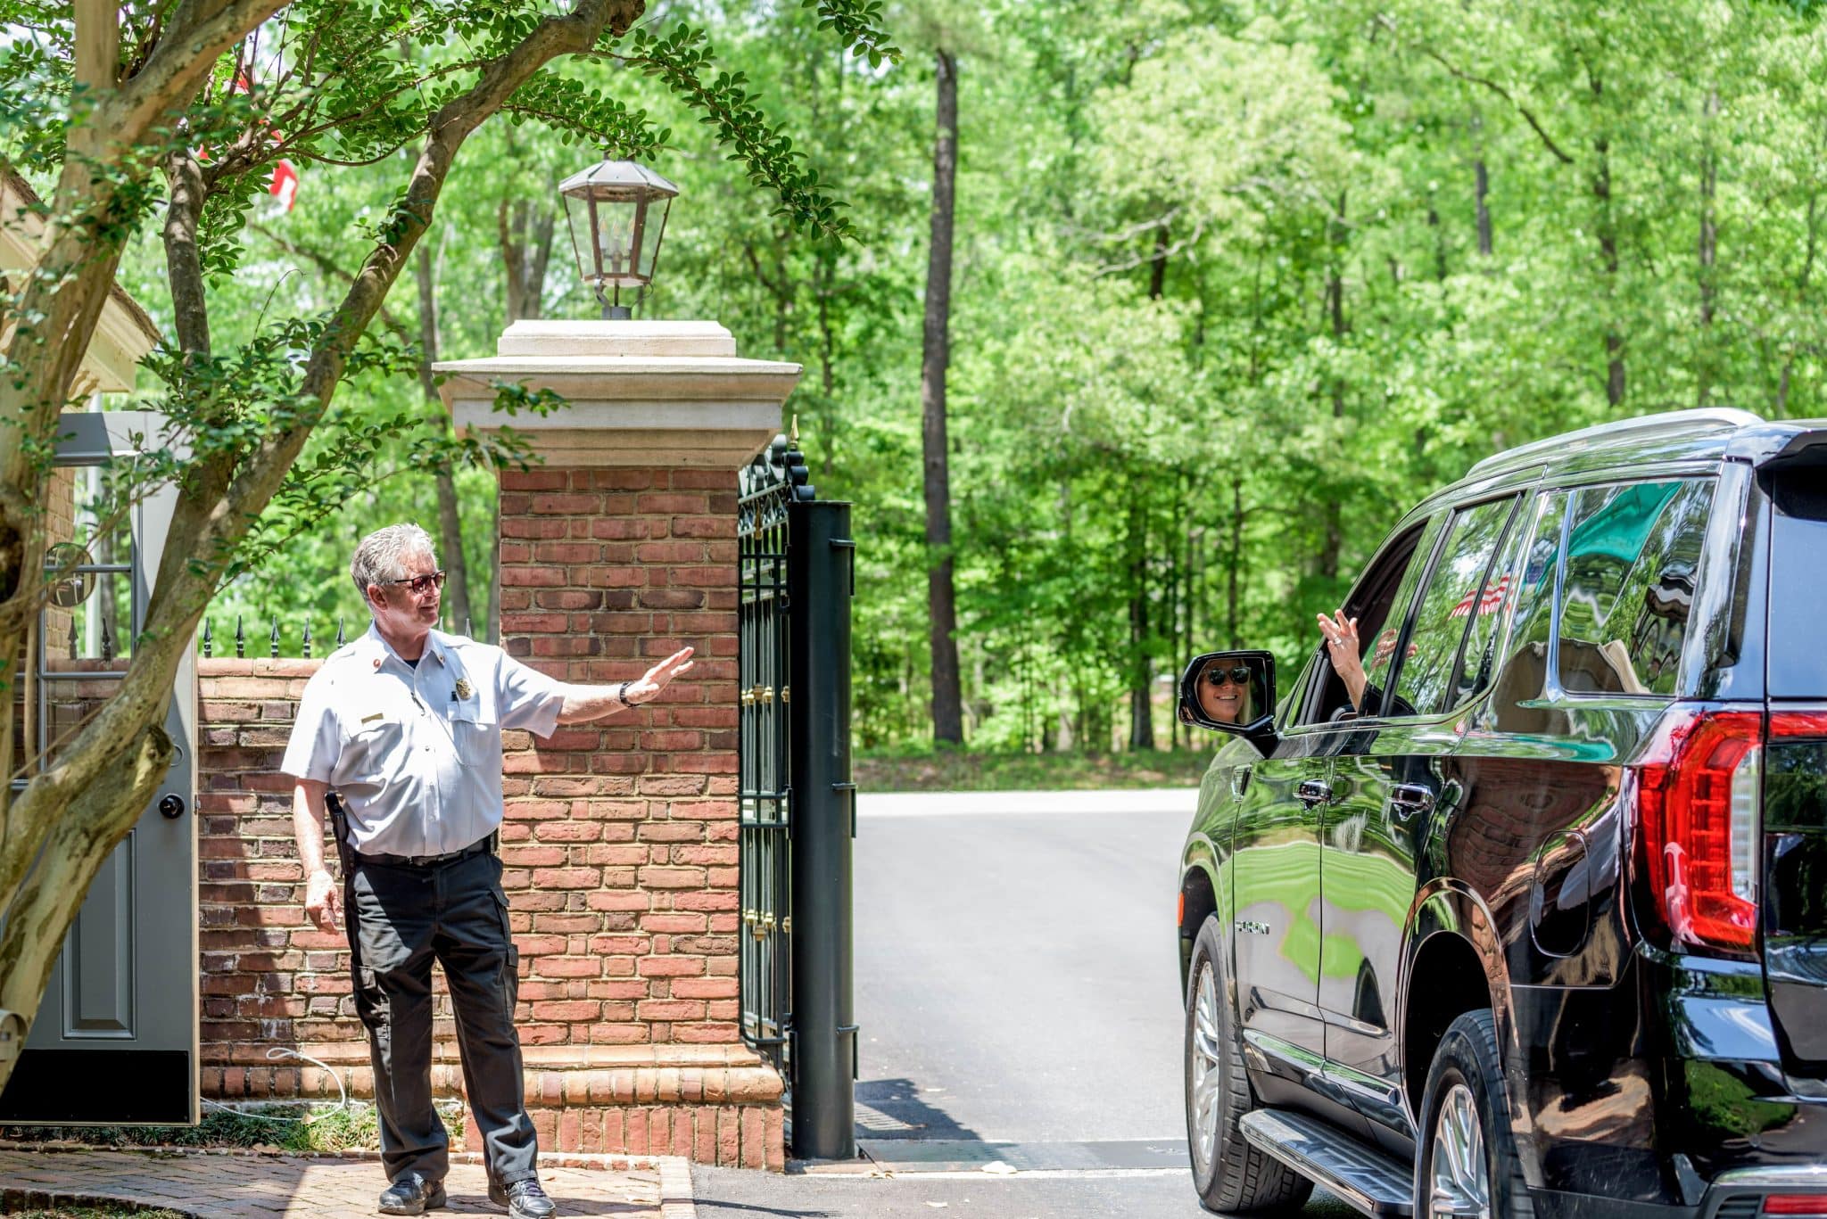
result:
[(654, 281), (660, 238), (678, 192), (645, 164), (607, 157), (559, 183), (577, 272), (596, 291), (605, 318), (634, 316), (621, 303), (621, 289)]

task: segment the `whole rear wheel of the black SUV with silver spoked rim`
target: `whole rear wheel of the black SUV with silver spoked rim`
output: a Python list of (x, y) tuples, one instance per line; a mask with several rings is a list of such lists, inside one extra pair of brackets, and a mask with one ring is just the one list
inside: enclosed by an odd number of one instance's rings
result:
[(1414, 1214), (1529, 1219), (1535, 1204), (1516, 1161), (1509, 1095), (1489, 1011), (1465, 1012), (1440, 1038), (1427, 1071)]

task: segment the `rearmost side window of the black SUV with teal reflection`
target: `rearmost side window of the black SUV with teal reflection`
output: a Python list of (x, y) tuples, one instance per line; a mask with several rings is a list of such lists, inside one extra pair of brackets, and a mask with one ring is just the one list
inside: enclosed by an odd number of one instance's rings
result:
[(1573, 499), (1557, 674), (1569, 694), (1670, 694), (1712, 479), (1588, 486)]

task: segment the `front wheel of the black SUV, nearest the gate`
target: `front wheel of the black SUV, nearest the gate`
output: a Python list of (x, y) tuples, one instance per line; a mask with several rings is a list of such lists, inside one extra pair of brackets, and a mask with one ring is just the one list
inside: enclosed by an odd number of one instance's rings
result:
[[(1211, 991), (1202, 1012), (1200, 987), (1206, 981)], [(1242, 1045), (1226, 998), (1224, 930), (1217, 916), (1204, 921), (1193, 941), (1180, 1065), (1186, 1073), (1186, 1144), (1193, 1155), (1193, 1188), (1200, 1204), (1224, 1214), (1266, 1214), (1306, 1203), (1314, 1182), (1253, 1148), (1237, 1129), (1237, 1118), (1255, 1108), (1255, 1095), (1244, 1075)], [(1200, 1135), (1195, 1089), (1215, 1106), (1208, 1135)]]

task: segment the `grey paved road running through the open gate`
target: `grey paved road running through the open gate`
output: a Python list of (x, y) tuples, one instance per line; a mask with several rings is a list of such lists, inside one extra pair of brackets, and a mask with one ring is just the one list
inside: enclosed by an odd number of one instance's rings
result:
[[(864, 795), (866, 1159), (787, 1177), (698, 1168), (700, 1215), (1204, 1215), (1186, 1171), (1173, 938), (1193, 800)], [(1306, 1214), (1352, 1212), (1323, 1199)]]

